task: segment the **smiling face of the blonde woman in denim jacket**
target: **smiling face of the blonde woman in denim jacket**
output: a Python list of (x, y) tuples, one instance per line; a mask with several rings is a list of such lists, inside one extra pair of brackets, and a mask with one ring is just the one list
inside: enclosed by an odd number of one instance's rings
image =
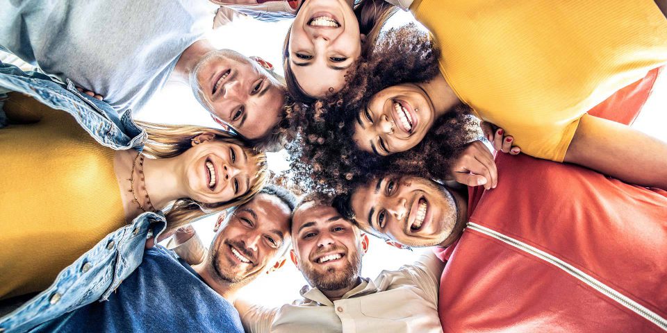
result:
[(179, 158), (188, 198), (200, 203), (224, 203), (245, 194), (259, 170), (256, 157), (247, 149), (212, 138), (193, 144)]

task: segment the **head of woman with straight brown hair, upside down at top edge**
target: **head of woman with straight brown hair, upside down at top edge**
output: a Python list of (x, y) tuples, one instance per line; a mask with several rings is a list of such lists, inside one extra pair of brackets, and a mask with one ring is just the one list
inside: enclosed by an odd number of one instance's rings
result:
[(372, 49), (397, 8), (384, 0), (308, 0), (297, 11), (283, 46), (287, 89), (310, 103), (345, 83), (345, 74)]

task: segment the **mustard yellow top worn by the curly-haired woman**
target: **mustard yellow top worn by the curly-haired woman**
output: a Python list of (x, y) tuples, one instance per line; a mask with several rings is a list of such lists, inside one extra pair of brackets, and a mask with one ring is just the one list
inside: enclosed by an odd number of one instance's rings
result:
[(416, 0), (440, 71), (523, 153), (562, 162), (579, 118), (667, 62), (653, 0)]

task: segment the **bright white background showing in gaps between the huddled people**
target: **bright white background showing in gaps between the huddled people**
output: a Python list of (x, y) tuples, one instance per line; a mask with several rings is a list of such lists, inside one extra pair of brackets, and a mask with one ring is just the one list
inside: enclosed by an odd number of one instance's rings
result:
[[(388, 26), (400, 26), (412, 21), (409, 13), (398, 12), (388, 22)], [(234, 49), (246, 56), (261, 56), (281, 73), (281, 50), (289, 24), (290, 22), (264, 23), (239, 17), (233, 23), (213, 31), (209, 38), (213, 40), (215, 46)], [(667, 131), (664, 130), (664, 126), (667, 125), (666, 106), (667, 76), (663, 75), (656, 83), (654, 93), (636, 119), (634, 127), (667, 142)], [(181, 83), (167, 83), (142, 112), (135, 114), (135, 117), (147, 121), (192, 123), (215, 127), (215, 123), (192, 97), (190, 88)], [(288, 167), (281, 153), (270, 154), (269, 163), (274, 171)], [(214, 218), (208, 218), (195, 223), (195, 229), (205, 244), (209, 244), (213, 239), (214, 221)], [(387, 246), (380, 239), (370, 237), (370, 249), (363, 259), (361, 274), (375, 278), (383, 269), (393, 270), (402, 264), (413, 262), (419, 253), (419, 250), (414, 253), (397, 250)], [(299, 290), (304, 284), (306, 280), (288, 259), (288, 263), (281, 270), (261, 275), (246, 287), (241, 297), (265, 306), (277, 307), (299, 298)]]

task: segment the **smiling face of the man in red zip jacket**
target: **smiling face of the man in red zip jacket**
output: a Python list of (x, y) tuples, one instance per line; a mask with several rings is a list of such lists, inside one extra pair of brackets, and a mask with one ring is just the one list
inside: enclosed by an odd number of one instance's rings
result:
[(463, 230), (450, 191), (425, 178), (371, 180), (354, 190), (351, 203), (363, 230), (407, 246), (447, 246)]

